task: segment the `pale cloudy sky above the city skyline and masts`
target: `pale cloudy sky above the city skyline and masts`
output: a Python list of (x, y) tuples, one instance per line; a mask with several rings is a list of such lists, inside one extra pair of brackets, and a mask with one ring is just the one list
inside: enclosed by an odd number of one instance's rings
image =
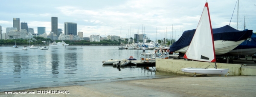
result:
[[(2, 33), (12, 27), (12, 18), (28, 23), (30, 28), (46, 27), (51, 31), (51, 17), (58, 17), (58, 28), (64, 22), (77, 23), (84, 37), (100, 34), (127, 38), (145, 33), (151, 40), (172, 36), (176, 40), (183, 31), (196, 29), (206, 0), (3, 0), (0, 3)], [(229, 25), (239, 30), (256, 32), (256, 1), (208, 0), (212, 28)], [(236, 8), (235, 8), (236, 5)], [(173, 26), (172, 26), (173, 25)], [(121, 29), (122, 27), (122, 29)], [(173, 27), (173, 30), (172, 30)], [(145, 30), (144, 30), (145, 28)], [(142, 30), (143, 29), (143, 30)], [(167, 29), (167, 30), (166, 30)], [(166, 33), (167, 32), (167, 33)], [(134, 35), (133, 35), (134, 36)], [(132, 36), (132, 37), (133, 37)]]

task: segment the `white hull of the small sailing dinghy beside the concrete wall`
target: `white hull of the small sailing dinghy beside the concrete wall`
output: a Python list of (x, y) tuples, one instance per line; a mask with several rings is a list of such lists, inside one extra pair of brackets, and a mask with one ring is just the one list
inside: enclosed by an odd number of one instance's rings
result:
[(192, 74), (225, 75), (228, 68), (182, 68), (181, 71)]

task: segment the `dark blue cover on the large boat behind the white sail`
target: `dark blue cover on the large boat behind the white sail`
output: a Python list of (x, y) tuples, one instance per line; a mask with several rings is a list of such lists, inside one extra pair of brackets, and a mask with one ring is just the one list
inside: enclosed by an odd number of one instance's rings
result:
[[(170, 46), (170, 51), (177, 51), (183, 47), (189, 46), (196, 29), (184, 31), (180, 39)], [(229, 40), (229, 41), (239, 41), (245, 40), (250, 37), (253, 30), (245, 29), (243, 31), (236, 30), (228, 25), (221, 28), (212, 29), (213, 40)], [(202, 40), (204, 41), (204, 40)]]

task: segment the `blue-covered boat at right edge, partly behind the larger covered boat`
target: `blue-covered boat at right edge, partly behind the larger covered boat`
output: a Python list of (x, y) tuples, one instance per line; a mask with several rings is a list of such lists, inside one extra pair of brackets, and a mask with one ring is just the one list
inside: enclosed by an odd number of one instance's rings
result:
[(250, 38), (245, 40), (239, 46), (228, 52), (233, 56), (237, 55), (253, 55), (256, 53), (256, 34), (253, 33)]

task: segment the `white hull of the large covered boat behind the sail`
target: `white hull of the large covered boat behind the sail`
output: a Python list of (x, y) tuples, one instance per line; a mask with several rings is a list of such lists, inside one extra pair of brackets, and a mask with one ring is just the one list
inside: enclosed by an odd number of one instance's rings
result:
[[(225, 54), (227, 52), (230, 52), (234, 48), (236, 48), (238, 45), (240, 45), (242, 42), (244, 42), (244, 40), (240, 40), (240, 41), (216, 40), (216, 41), (214, 41), (215, 55), (220, 55), (220, 54)], [(186, 46), (186, 47), (181, 48), (175, 52), (181, 52), (181, 53), (185, 54), (188, 47), (189, 46)]]

